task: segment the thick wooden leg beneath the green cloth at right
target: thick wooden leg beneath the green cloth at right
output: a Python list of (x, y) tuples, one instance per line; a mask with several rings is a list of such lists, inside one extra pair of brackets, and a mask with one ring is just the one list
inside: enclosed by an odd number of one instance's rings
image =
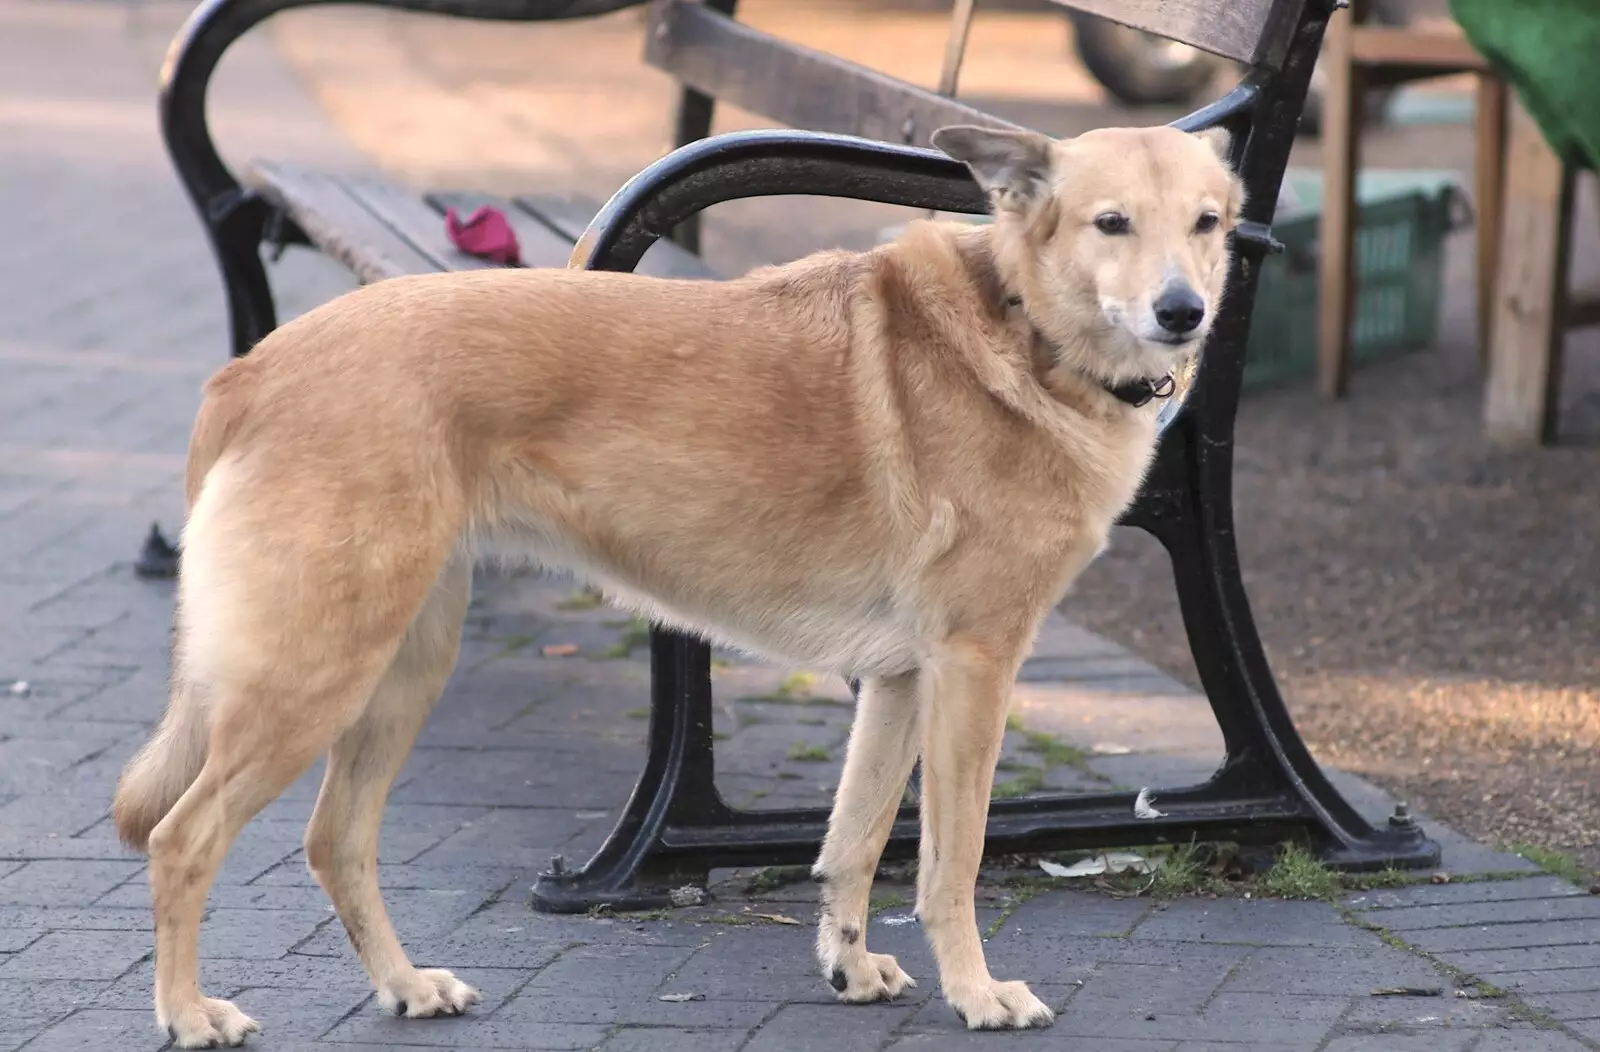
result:
[(1501, 446), (1555, 436), (1573, 174), (1520, 102), (1510, 106), (1483, 430)]

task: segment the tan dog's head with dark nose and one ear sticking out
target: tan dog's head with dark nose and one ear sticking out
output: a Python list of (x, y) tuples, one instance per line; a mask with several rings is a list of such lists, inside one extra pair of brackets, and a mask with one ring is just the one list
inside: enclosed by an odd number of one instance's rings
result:
[(1002, 277), (1062, 365), (1154, 377), (1200, 347), (1243, 205), (1226, 131), (1104, 128), (1053, 141), (952, 126), (933, 144), (989, 192)]

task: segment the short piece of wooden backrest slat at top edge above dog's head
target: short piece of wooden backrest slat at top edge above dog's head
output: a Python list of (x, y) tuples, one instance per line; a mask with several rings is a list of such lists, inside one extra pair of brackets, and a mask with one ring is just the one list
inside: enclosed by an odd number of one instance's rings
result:
[(1250, 66), (1277, 69), (1304, 0), (1051, 0)]

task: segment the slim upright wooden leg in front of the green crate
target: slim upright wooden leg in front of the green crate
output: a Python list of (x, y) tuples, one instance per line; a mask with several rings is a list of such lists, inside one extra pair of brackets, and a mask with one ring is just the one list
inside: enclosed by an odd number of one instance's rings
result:
[(1365, 0), (1334, 11), (1323, 37), (1328, 85), (1322, 102), (1322, 219), (1317, 302), (1317, 389), (1342, 398), (1350, 382), (1350, 312), (1355, 299), (1355, 173), (1362, 166), (1366, 72), (1352, 62), (1352, 29)]

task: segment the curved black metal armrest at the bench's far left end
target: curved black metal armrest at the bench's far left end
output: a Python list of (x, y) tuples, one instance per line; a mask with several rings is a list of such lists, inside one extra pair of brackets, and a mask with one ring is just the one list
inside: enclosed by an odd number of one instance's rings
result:
[(194, 10), (166, 51), (160, 75), (162, 137), (184, 189), (208, 222), (230, 208), (226, 195), (238, 181), (222, 165), (206, 126), (206, 90), (229, 46), (264, 19), (326, 3), (370, 3), (382, 8), (491, 21), (558, 21), (606, 14), (645, 0), (205, 0)]

